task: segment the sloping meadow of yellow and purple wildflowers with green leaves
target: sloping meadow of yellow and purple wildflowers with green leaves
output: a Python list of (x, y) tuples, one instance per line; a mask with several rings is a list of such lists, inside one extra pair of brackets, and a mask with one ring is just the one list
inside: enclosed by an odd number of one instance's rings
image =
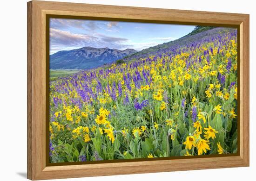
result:
[(50, 81), (50, 162), (236, 153), (237, 31), (193, 36)]

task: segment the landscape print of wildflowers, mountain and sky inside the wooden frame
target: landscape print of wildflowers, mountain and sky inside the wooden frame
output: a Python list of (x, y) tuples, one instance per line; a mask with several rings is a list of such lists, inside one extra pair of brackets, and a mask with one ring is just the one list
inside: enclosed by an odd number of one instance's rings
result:
[(49, 23), (50, 163), (237, 153), (237, 29)]

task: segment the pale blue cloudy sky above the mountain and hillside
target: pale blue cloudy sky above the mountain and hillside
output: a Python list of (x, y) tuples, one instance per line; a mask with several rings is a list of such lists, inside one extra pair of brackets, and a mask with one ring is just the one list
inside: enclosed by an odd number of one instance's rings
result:
[(194, 28), (191, 25), (51, 18), (50, 55), (85, 46), (140, 51), (183, 37)]

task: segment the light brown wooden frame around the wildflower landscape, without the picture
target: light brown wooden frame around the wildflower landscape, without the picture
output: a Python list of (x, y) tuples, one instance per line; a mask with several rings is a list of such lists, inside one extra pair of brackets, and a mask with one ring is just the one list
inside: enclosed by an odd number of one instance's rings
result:
[[(186, 25), (226, 25), (239, 33), (238, 154), (222, 157), (48, 166), (46, 17), (72, 15)], [(27, 178), (31, 180), (249, 166), (249, 15), (33, 0), (27, 3)]]

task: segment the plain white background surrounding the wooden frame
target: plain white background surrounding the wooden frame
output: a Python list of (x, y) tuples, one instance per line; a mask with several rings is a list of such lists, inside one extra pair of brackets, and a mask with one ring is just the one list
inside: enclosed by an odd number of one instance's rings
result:
[[(59, 1), (59, 0), (55, 0)], [(256, 156), (256, 60), (253, 0), (61, 0), (91, 4), (141, 6), (170, 9), (250, 14), (250, 167), (154, 174), (67, 179), (72, 181), (252, 180)], [(27, 175), (27, 0), (0, 2), (0, 180), (26, 180)], [(253, 104), (254, 103), (254, 104)], [(15, 162), (15, 163), (14, 163)]]

